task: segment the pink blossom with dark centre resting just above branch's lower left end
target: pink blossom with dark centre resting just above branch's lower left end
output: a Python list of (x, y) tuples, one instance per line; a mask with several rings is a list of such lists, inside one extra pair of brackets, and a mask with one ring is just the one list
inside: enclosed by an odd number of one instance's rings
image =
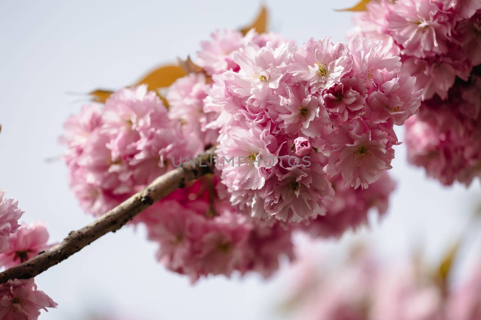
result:
[(18, 232), (8, 238), (10, 246), (7, 251), (0, 254), (0, 265), (10, 268), (32, 259), (40, 251), (53, 247), (47, 244), (48, 239), (49, 232), (43, 222), (22, 224)]

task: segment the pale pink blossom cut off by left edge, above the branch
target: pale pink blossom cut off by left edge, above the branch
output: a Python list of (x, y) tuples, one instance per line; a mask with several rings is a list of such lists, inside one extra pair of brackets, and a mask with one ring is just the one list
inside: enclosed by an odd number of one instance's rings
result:
[(5, 190), (0, 189), (0, 253), (9, 248), (8, 237), (17, 232), (18, 219), (24, 211), (18, 208), (18, 201), (5, 197)]

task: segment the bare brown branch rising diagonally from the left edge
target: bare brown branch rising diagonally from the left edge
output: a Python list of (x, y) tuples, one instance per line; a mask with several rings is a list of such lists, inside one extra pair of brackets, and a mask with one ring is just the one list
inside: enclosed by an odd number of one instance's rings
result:
[(60, 244), (40, 253), (37, 257), (0, 273), (0, 284), (7, 282), (9, 279), (29, 279), (44, 272), (106, 233), (120, 229), (137, 214), (150, 207), (154, 202), (164, 198), (170, 192), (185, 187), (187, 182), (212, 173), (213, 170), (212, 154), (206, 153), (196, 157), (195, 165), (185, 163), (165, 173), (156, 178), (144, 190), (137, 192), (91, 224), (76, 231), (71, 231)]

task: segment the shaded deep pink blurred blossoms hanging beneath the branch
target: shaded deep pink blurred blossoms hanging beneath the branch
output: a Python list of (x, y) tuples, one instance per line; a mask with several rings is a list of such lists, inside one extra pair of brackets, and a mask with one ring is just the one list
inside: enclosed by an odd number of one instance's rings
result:
[[(228, 201), (217, 198), (217, 192), (203, 191), (205, 182), (194, 183), (187, 192), (177, 190), (154, 204), (148, 216), (140, 215), (149, 239), (159, 243), (157, 258), (166, 268), (187, 274), (192, 281), (234, 271), (269, 276), (278, 268), (281, 255), (293, 257), (289, 229), (247, 219)], [(182, 193), (187, 193), (186, 198)]]

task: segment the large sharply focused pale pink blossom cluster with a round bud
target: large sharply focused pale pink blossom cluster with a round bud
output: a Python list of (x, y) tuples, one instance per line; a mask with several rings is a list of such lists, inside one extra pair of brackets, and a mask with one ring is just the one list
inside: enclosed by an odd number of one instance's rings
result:
[(367, 189), (391, 168), (393, 125), (420, 105), (400, 58), (367, 38), (249, 44), (234, 61), (239, 71), (212, 77), (204, 111), (218, 113), (209, 127), (220, 132), (230, 201), (261, 219), (325, 215), (335, 194), (328, 175)]

